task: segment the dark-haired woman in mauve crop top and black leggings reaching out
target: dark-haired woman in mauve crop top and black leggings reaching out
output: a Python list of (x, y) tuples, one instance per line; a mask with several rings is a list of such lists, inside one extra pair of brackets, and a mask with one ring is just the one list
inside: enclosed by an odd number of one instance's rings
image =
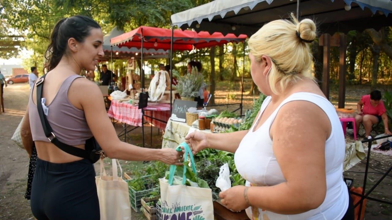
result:
[(100, 25), (86, 16), (64, 18), (53, 29), (42, 100), (37, 100), (36, 83), (21, 128), (26, 150), (31, 153), (35, 144), (38, 154), (31, 189), (31, 210), (38, 220), (99, 220), (100, 209), (92, 162), (60, 150), (45, 136), (37, 102), (53, 129), (52, 140), (85, 149), (94, 136), (110, 158), (182, 165), (182, 152), (140, 148), (118, 139), (99, 87), (78, 75), (95, 69), (104, 55), (102, 43)]

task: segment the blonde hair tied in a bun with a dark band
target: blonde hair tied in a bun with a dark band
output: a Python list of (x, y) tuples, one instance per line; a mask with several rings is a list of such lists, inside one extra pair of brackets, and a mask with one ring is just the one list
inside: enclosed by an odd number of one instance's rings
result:
[(291, 18), (292, 21), (275, 20), (265, 24), (248, 41), (250, 52), (257, 61), (263, 55), (271, 58), (269, 84), (275, 94), (301, 76), (313, 79), (309, 43), (316, 38), (316, 25), (310, 19), (298, 22), (294, 14)]

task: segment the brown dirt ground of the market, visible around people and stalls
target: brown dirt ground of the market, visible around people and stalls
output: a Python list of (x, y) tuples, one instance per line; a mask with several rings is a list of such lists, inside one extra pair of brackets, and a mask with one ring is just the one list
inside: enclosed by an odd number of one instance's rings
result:
[[(226, 83), (226, 84), (225, 84)], [(225, 84), (225, 85), (224, 85)], [(239, 103), (241, 99), (238, 85), (231, 88), (230, 94), (234, 94), (231, 99), (227, 100), (228, 85), (227, 82), (220, 82), (217, 85), (220, 90), (216, 91), (216, 104)], [(250, 88), (250, 83), (245, 84), (245, 90)], [(357, 100), (362, 94), (366, 94), (367, 87), (347, 87), (347, 106), (355, 107)], [(31, 214), (29, 201), (25, 200), (24, 192), (27, 182), (27, 171), (29, 160), (25, 150), (18, 148), (11, 140), (11, 136), (22, 119), (29, 97), (29, 85), (26, 83), (9, 85), (4, 89), (5, 113), (0, 115), (0, 219), (1, 220), (27, 220), (34, 219)], [(336, 105), (336, 91), (331, 91), (332, 103)], [(252, 106), (252, 94), (244, 95), (244, 109)], [(230, 110), (238, 108), (239, 105), (230, 106)], [(220, 107), (219, 110), (223, 110)], [(121, 124), (117, 123), (115, 128), (118, 132), (122, 130)], [(130, 133), (132, 144), (142, 145), (142, 130), (140, 128)], [(146, 143), (150, 143), (150, 128), (145, 129)], [(363, 133), (363, 132), (362, 132)], [(153, 128), (152, 130), (152, 148), (159, 148), (162, 144), (162, 131)], [(129, 141), (129, 140), (127, 140)], [(347, 142), (352, 141), (352, 137), (347, 136)], [(371, 168), (368, 175), (367, 189), (370, 189), (377, 180), (382, 176), (380, 172), (387, 170), (392, 165), (391, 157), (371, 153)], [(108, 161), (107, 161), (108, 162)], [(345, 177), (354, 179), (354, 186), (361, 186), (363, 182), (363, 173), (365, 171), (366, 160), (357, 164), (345, 172)], [(140, 165), (140, 162), (121, 162), (125, 165), (125, 170), (132, 169), (132, 166)], [(108, 164), (106, 164), (108, 165)], [(96, 169), (98, 170), (98, 169)], [(392, 201), (392, 173), (387, 176), (383, 182), (373, 191), (371, 197)], [(379, 202), (368, 201), (366, 207), (366, 220), (392, 220), (392, 206), (381, 204)], [(132, 219), (141, 220), (143, 215), (132, 213)]]

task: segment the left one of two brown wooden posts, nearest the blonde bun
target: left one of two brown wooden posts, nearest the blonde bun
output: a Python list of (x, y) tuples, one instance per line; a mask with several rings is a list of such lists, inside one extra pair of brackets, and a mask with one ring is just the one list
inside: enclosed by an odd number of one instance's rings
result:
[(329, 34), (323, 34), (323, 84), (322, 90), (329, 100), (329, 64), (330, 64), (330, 38)]

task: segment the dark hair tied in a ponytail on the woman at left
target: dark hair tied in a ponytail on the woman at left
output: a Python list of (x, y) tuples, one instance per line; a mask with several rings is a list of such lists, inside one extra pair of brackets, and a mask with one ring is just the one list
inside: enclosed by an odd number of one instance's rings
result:
[(54, 69), (64, 56), (69, 38), (75, 38), (76, 41), (83, 42), (90, 35), (92, 28), (101, 27), (92, 18), (83, 15), (63, 18), (58, 21), (52, 31), (51, 43), (45, 52), (45, 58), (49, 60), (49, 71)]

